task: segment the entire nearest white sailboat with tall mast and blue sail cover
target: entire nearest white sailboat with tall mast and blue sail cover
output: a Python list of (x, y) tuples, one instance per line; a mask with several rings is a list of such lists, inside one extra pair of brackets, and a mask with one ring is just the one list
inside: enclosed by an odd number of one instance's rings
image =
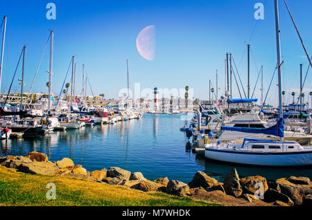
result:
[(277, 36), (277, 68), (279, 80), (279, 118), (276, 125), (267, 128), (221, 127), (221, 130), (242, 131), (246, 134), (270, 134), (274, 139), (245, 138), (242, 144), (207, 143), (205, 157), (216, 161), (263, 166), (312, 165), (312, 147), (303, 147), (295, 141), (284, 140), (284, 118), (281, 99), (281, 50), (278, 0), (275, 0), (275, 26)]

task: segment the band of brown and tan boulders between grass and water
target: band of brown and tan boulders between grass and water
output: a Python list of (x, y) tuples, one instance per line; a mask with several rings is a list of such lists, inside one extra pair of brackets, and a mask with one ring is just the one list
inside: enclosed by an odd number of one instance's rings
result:
[(169, 180), (167, 177), (149, 181), (141, 172), (131, 173), (119, 167), (88, 172), (83, 166), (74, 165), (70, 158), (53, 162), (49, 161), (46, 154), (38, 152), (31, 152), (27, 156), (2, 157), (0, 165), (28, 174), (84, 178), (103, 184), (122, 185), (143, 192), (164, 192), (222, 205), (312, 205), (312, 183), (307, 177), (290, 176), (268, 182), (262, 176), (239, 178), (236, 169), (233, 169), (223, 183), (200, 171), (196, 172), (189, 183)]

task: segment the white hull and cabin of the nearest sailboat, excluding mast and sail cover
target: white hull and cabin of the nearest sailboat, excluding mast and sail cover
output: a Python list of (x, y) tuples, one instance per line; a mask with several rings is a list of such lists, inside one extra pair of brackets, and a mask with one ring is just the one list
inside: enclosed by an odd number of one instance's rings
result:
[(228, 163), (263, 166), (297, 166), (312, 164), (312, 147), (302, 147), (295, 141), (257, 140), (245, 138), (235, 143), (208, 144), (205, 157)]

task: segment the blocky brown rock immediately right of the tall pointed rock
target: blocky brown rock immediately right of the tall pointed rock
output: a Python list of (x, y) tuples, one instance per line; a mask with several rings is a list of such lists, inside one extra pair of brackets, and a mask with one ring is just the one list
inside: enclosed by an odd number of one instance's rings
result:
[(259, 191), (261, 188), (263, 189), (263, 193), (268, 190), (266, 178), (262, 176), (248, 176), (246, 178), (241, 178), (239, 183), (241, 183), (243, 192), (246, 194), (254, 194), (254, 192)]

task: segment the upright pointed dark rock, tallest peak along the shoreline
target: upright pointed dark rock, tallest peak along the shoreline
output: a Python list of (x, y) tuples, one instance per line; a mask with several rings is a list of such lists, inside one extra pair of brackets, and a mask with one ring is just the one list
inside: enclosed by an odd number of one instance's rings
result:
[(224, 180), (224, 190), (226, 194), (238, 198), (241, 196), (243, 190), (241, 188), (241, 183), (239, 183), (239, 174), (236, 169), (233, 169)]

